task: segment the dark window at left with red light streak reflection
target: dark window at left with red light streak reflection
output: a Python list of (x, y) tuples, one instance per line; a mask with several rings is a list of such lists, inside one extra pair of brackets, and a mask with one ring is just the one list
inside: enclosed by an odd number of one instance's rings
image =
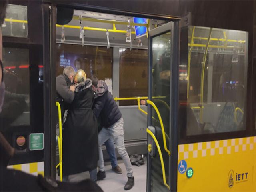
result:
[(1, 131), (30, 124), (29, 57), (27, 49), (3, 48), (5, 98)]

